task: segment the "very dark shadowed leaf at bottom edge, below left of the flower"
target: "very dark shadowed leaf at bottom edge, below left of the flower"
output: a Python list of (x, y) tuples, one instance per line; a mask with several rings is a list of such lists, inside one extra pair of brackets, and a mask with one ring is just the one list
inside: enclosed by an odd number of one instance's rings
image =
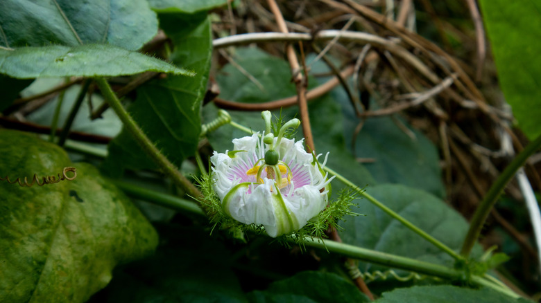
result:
[[(230, 252), (201, 228), (162, 226), (164, 245), (116, 272), (92, 302), (247, 302)], [(187, 249), (189, 248), (189, 249)]]

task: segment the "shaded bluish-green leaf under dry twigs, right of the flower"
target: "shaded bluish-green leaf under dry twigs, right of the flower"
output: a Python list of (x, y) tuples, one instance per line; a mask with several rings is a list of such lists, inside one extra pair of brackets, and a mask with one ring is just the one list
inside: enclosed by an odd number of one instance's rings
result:
[[(361, 120), (352, 113), (343, 89), (336, 89), (334, 95), (343, 105), (345, 138), (351, 143), (354, 129)], [(366, 163), (365, 167), (379, 183), (408, 185), (445, 197), (438, 149), (420, 131), (403, 120), (400, 122), (415, 134), (415, 139), (400, 129), (392, 118), (370, 117), (363, 122), (355, 140), (354, 155), (375, 160)]]

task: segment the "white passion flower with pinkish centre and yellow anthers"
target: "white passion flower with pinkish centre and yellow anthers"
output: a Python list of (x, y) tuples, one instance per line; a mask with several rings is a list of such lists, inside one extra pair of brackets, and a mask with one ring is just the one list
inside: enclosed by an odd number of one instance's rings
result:
[[(277, 138), (269, 135), (266, 140), (259, 134), (234, 139), (233, 152), (214, 152), (210, 160), (224, 212), (277, 237), (299, 230), (325, 209), (330, 179), (316, 157), (304, 151), (302, 140), (282, 138), (282, 131)], [(266, 158), (269, 151), (277, 152), (279, 162)]]

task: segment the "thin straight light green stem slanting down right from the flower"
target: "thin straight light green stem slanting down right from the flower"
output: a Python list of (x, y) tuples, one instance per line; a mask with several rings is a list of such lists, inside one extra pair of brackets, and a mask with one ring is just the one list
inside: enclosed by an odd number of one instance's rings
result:
[(423, 237), (424, 239), (429, 241), (431, 244), (433, 244), (437, 248), (440, 248), (440, 250), (443, 250), (443, 251), (447, 252), (447, 254), (449, 254), (451, 257), (454, 257), (454, 259), (456, 259), (456, 260), (463, 260), (464, 259), (461, 255), (458, 255), (458, 253), (456, 253), (454, 250), (449, 248), (449, 246), (446, 246), (442, 242), (438, 241), (438, 239), (436, 239), (436, 238), (432, 237), (431, 235), (427, 234), (427, 232), (424, 232), (424, 230), (421, 230), (417, 226), (413, 225), (413, 223), (411, 223), (410, 221), (404, 219), (404, 217), (400, 216), (400, 214), (397, 214), (396, 212), (394, 212), (393, 210), (391, 210), (390, 208), (385, 206), (383, 203), (377, 201), (377, 199), (375, 199), (373, 196), (370, 196), (370, 194), (367, 194), (365, 191), (361, 190), (359, 187), (357, 187), (356, 185), (351, 183), (349, 180), (347, 180), (347, 178), (344, 178), (343, 176), (341, 176), (337, 172), (334, 172), (334, 170), (330, 169), (329, 167), (323, 167), (323, 169), (325, 169), (330, 174), (333, 174), (334, 176), (336, 176), (336, 178), (338, 180), (342, 181), (345, 185), (352, 187), (353, 190), (355, 190), (361, 196), (363, 196), (368, 201), (370, 201), (372, 204), (376, 205), (378, 208), (380, 208), (381, 210), (386, 212), (386, 214), (390, 215), (390, 217), (393, 217), (397, 221), (400, 221), (400, 223), (402, 223), (404, 226), (406, 226), (406, 228), (409, 228), (409, 229), (413, 230), (413, 232), (420, 235), (421, 237)]

